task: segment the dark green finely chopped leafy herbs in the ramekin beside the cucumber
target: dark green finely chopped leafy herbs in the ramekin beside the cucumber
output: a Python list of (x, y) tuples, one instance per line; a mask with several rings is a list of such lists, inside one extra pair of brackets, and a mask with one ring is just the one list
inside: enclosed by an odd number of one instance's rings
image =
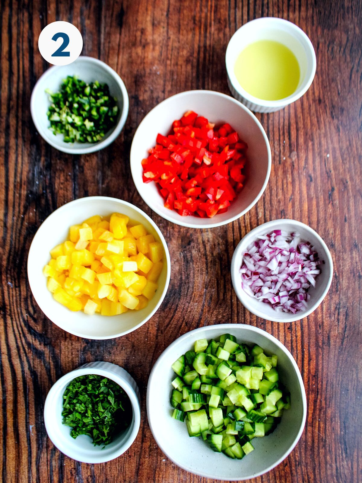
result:
[(130, 424), (132, 408), (125, 391), (111, 379), (86, 374), (73, 379), (63, 395), (63, 424), (70, 436), (86, 434), (93, 444), (109, 444)]

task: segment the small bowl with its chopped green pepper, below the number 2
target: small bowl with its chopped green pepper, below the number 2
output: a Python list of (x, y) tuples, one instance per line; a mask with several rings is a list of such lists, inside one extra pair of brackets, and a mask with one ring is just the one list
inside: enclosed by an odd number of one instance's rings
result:
[(117, 72), (84, 56), (45, 71), (30, 99), (39, 134), (70, 154), (93, 153), (111, 144), (125, 125), (128, 106), (127, 90)]

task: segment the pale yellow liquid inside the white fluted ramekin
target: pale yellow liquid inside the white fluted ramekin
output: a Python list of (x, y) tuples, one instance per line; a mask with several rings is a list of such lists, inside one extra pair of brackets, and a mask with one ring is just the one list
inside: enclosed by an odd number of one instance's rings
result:
[(241, 87), (258, 99), (279, 100), (298, 86), (300, 69), (292, 51), (282, 43), (260, 40), (239, 54), (235, 75)]

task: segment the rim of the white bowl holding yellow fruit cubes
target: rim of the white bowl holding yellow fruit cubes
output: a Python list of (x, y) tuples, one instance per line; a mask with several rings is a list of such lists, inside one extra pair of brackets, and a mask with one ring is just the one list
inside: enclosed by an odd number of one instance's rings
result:
[[(127, 206), (127, 207), (129, 207), (129, 208), (137, 211), (155, 229), (157, 235), (160, 238), (160, 241), (162, 243), (162, 246), (163, 246), (164, 251), (165, 251), (165, 256), (166, 256), (166, 268), (167, 268), (167, 272), (166, 272), (165, 287), (164, 287), (164, 289), (162, 291), (162, 294), (161, 294), (161, 297), (160, 297), (158, 303), (156, 304), (156, 306), (154, 307), (154, 309), (141, 322), (139, 322), (139, 324), (137, 324), (135, 327), (132, 327), (132, 328), (130, 328), (128, 330), (125, 330), (123, 332), (120, 332), (120, 333), (115, 334), (115, 335), (112, 335), (112, 336), (92, 336), (92, 337), (89, 337), (89, 336), (85, 336), (84, 334), (82, 334), (80, 332), (77, 332), (76, 330), (70, 332), (69, 330), (66, 330), (65, 328), (63, 328), (63, 327), (59, 326), (58, 324), (56, 324), (55, 322), (53, 322), (51, 316), (48, 315), (49, 311), (48, 310), (45, 310), (44, 311), (44, 309), (42, 307), (42, 303), (39, 302), (40, 297), (38, 296), (38, 294), (35, 295), (37, 293), (37, 290), (33, 290), (33, 287), (36, 286), (36, 281), (33, 279), (33, 275), (30, 274), (30, 272), (29, 272), (29, 263), (30, 263), (29, 260), (30, 260), (30, 257), (32, 256), (32, 250), (34, 250), (33, 247), (38, 242), (38, 238), (41, 235), (41, 228), (44, 225), (44, 223), (51, 216), (53, 217), (53, 215), (55, 215), (55, 213), (59, 213), (59, 210), (65, 210), (66, 209), (65, 207), (68, 207), (68, 205), (73, 204), (73, 206), (74, 206), (74, 205), (77, 205), (77, 204), (82, 204), (82, 203), (86, 202), (86, 200), (90, 200), (90, 199), (98, 200), (99, 202), (104, 201), (104, 200), (107, 200), (107, 201), (108, 200), (116, 201), (120, 205)], [(168, 247), (167, 247), (166, 240), (165, 240), (163, 234), (161, 233), (161, 230), (159, 229), (159, 227), (157, 227), (157, 225), (155, 224), (155, 222), (153, 221), (153, 219), (150, 216), (148, 216), (148, 214), (146, 214), (145, 212), (143, 212), (137, 206), (133, 205), (132, 203), (129, 203), (128, 201), (124, 201), (123, 199), (112, 198), (112, 197), (108, 197), (108, 196), (88, 196), (88, 197), (73, 199), (72, 201), (69, 201), (68, 203), (65, 203), (64, 205), (62, 205), (59, 208), (57, 208), (53, 213), (50, 213), (50, 215), (45, 218), (45, 220), (42, 222), (42, 224), (40, 225), (40, 227), (38, 227), (38, 229), (37, 229), (37, 231), (36, 231), (36, 233), (35, 233), (32, 241), (30, 243), (30, 248), (29, 248), (29, 252), (28, 252), (28, 260), (27, 260), (27, 272), (28, 272), (28, 282), (29, 282), (29, 286), (30, 286), (31, 293), (33, 294), (33, 297), (34, 297), (36, 303), (38, 304), (40, 310), (42, 311), (42, 313), (46, 317), (48, 317), (48, 319), (53, 324), (55, 324), (56, 326), (58, 326), (59, 328), (61, 328), (65, 332), (68, 332), (69, 334), (73, 334), (73, 335), (75, 335), (77, 337), (82, 337), (83, 339), (90, 339), (90, 340), (108, 340), (108, 339), (115, 339), (116, 337), (122, 337), (122, 336), (124, 336), (126, 334), (129, 334), (130, 332), (133, 332), (134, 330), (136, 330), (139, 327), (143, 326), (143, 324), (145, 324), (148, 320), (150, 320), (150, 318), (154, 315), (154, 313), (156, 313), (156, 311), (159, 309), (159, 307), (162, 304), (162, 302), (163, 302), (163, 300), (164, 300), (164, 298), (166, 296), (166, 293), (167, 293), (168, 285), (169, 285), (169, 282), (170, 282), (170, 276), (171, 276), (171, 260), (170, 260), (170, 255), (169, 255), (169, 251), (168, 251)]]

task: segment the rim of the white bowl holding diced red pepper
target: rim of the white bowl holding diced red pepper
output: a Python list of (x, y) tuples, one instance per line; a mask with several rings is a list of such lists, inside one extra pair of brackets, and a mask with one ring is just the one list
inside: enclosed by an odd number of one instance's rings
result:
[[(183, 220), (182, 221), (181, 220), (175, 220), (172, 216), (168, 215), (168, 213), (162, 213), (160, 210), (158, 210), (157, 207), (151, 206), (151, 204), (149, 203), (149, 200), (147, 200), (146, 197), (143, 195), (142, 189), (140, 189), (140, 186), (143, 185), (143, 181), (142, 180), (139, 181), (139, 179), (137, 177), (136, 168), (135, 168), (135, 161), (132, 162), (132, 159), (134, 157), (134, 155), (132, 156), (132, 149), (133, 149), (133, 146), (135, 144), (136, 135), (137, 135), (137, 133), (138, 133), (138, 131), (139, 131), (139, 129), (140, 129), (143, 121), (145, 121), (145, 119), (147, 119), (149, 116), (151, 116), (153, 114), (153, 111), (155, 109), (158, 109), (159, 106), (161, 106), (162, 104), (166, 103), (170, 99), (173, 99), (173, 98), (176, 98), (176, 97), (177, 98), (183, 97), (183, 96), (186, 96), (186, 95), (189, 95), (189, 94), (192, 94), (192, 95), (200, 95), (201, 94), (202, 95), (203, 93), (212, 94), (214, 96), (221, 97), (223, 99), (227, 99), (227, 100), (235, 103), (238, 107), (240, 107), (247, 114), (250, 115), (251, 119), (255, 122), (255, 124), (258, 126), (258, 128), (260, 129), (260, 131), (261, 131), (261, 133), (263, 135), (263, 138), (264, 138), (264, 141), (265, 141), (265, 144), (266, 144), (267, 153), (268, 153), (268, 166), (267, 166), (265, 181), (263, 183), (263, 186), (262, 186), (261, 190), (259, 191), (259, 193), (257, 194), (257, 196), (254, 198), (254, 200), (251, 202), (251, 204), (249, 206), (247, 206), (247, 208), (245, 208), (245, 210), (243, 210), (240, 213), (237, 213), (235, 216), (232, 216), (232, 217), (230, 217), (230, 218), (228, 218), (228, 219), (226, 219), (226, 220), (224, 220), (222, 222), (213, 222), (213, 223), (208, 223), (208, 224), (205, 224), (205, 225), (200, 226), (197, 223), (187, 222), (187, 221), (183, 221)], [(149, 206), (155, 213), (157, 213), (158, 215), (162, 216), (162, 218), (170, 221), (171, 223), (174, 223), (175, 225), (180, 225), (181, 227), (199, 228), (199, 229), (214, 228), (214, 227), (221, 227), (223, 225), (227, 225), (228, 223), (231, 223), (232, 221), (237, 220), (238, 218), (240, 218), (241, 216), (243, 216), (245, 213), (247, 213), (248, 211), (250, 211), (251, 208), (262, 197), (262, 195), (263, 195), (263, 193), (265, 191), (266, 185), (268, 184), (269, 177), (270, 177), (270, 171), (271, 171), (271, 150), (270, 150), (270, 144), (269, 144), (268, 137), (266, 136), (265, 129), (263, 128), (263, 126), (260, 123), (260, 121), (258, 120), (258, 118), (251, 112), (250, 109), (248, 109), (246, 106), (244, 106), (244, 104), (242, 104), (241, 102), (239, 102), (237, 99), (233, 98), (232, 96), (229, 96), (228, 94), (223, 94), (222, 92), (213, 91), (213, 90), (207, 90), (207, 89), (193, 89), (193, 90), (179, 92), (178, 94), (174, 94), (174, 95), (172, 95), (172, 96), (164, 99), (163, 101), (161, 101), (160, 103), (158, 103), (156, 106), (154, 106), (151, 109), (151, 111), (148, 112), (145, 115), (145, 117), (139, 123), (138, 128), (136, 129), (136, 132), (135, 132), (135, 134), (133, 136), (133, 139), (132, 139), (131, 151), (130, 151), (129, 159), (130, 159), (130, 166), (131, 166), (131, 173), (132, 173), (133, 182), (136, 185), (137, 191), (139, 192), (139, 196), (143, 199), (143, 201), (147, 204), (147, 206)], [(139, 160), (139, 163), (140, 163), (140, 160)], [(173, 210), (169, 210), (169, 211), (170, 211), (170, 213), (173, 212)], [(192, 216), (192, 215), (185, 216), (185, 218), (192, 218), (194, 220), (196, 219), (196, 217), (195, 216)]]

